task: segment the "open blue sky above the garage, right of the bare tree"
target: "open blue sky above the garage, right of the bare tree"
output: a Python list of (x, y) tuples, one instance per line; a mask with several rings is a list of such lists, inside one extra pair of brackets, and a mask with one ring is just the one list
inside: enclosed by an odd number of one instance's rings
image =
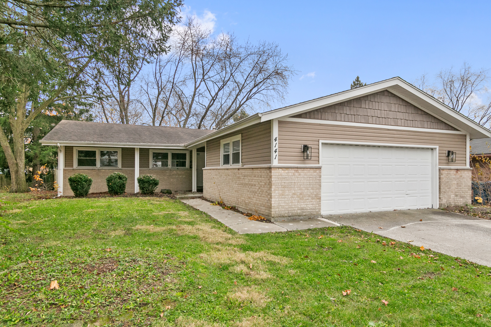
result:
[[(491, 68), (490, 1), (185, 0), (186, 12), (239, 39), (276, 42), (298, 71), (285, 105), (394, 76)], [(309, 74), (310, 75), (307, 75)], [(301, 78), (302, 75), (305, 75)]]

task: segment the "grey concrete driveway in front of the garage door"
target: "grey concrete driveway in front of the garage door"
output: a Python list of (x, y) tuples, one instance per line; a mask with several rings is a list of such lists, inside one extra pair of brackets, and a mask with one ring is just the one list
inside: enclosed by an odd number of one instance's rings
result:
[(351, 213), (323, 217), (398, 241), (412, 241), (410, 243), (418, 247), (424, 246), (436, 252), (491, 267), (491, 220), (438, 209)]

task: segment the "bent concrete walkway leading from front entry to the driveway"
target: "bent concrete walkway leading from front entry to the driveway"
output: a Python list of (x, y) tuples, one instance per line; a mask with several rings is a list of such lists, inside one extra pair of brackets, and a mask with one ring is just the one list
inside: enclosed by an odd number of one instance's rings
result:
[(307, 219), (293, 220), (276, 223), (261, 223), (248, 220), (246, 216), (232, 210), (222, 209), (218, 205), (211, 205), (210, 202), (201, 199), (181, 200), (192, 207), (206, 212), (223, 225), (232, 228), (239, 234), (268, 233), (273, 231), (289, 231), (298, 229), (309, 229), (318, 227), (339, 226), (327, 219)]

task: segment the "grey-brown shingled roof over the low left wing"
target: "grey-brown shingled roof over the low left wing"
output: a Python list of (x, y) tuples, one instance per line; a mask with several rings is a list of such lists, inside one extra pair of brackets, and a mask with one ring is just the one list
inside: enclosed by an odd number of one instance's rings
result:
[(42, 140), (43, 145), (177, 146), (211, 133), (208, 129), (92, 123), (62, 120)]

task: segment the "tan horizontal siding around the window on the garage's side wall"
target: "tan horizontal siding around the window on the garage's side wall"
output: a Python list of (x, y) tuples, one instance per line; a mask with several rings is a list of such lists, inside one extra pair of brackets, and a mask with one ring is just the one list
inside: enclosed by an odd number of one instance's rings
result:
[(220, 166), (220, 140), (242, 134), (242, 163), (271, 165), (271, 122), (249, 126), (206, 143), (206, 167)]

